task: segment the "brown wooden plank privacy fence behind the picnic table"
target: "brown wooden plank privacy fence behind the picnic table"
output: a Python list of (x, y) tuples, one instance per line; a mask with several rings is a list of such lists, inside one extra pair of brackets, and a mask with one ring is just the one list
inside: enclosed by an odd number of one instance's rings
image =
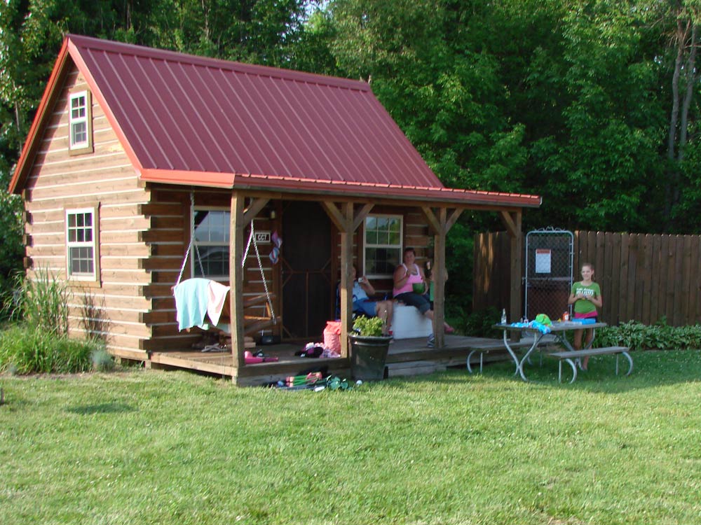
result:
[[(573, 280), (581, 279), (583, 262), (594, 265), (604, 297), (601, 321), (652, 324), (666, 317), (674, 326), (701, 323), (701, 236), (573, 233)], [(506, 232), (475, 235), (474, 311), (508, 309), (510, 251)]]

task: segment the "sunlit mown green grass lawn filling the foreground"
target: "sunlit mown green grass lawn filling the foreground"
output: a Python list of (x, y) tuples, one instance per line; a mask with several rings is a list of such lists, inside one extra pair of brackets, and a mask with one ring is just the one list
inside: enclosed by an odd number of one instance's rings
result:
[[(0, 524), (697, 524), (701, 353), (353, 391), (0, 377)], [(624, 368), (627, 370), (627, 367)]]

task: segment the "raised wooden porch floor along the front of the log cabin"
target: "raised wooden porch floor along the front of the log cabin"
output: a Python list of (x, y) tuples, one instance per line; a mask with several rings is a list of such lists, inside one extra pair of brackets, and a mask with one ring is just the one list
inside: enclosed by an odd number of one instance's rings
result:
[[(386, 376), (410, 376), (431, 374), (446, 370), (447, 367), (465, 367), (468, 353), (474, 349), (490, 349), (484, 356), (485, 361), (509, 358), (501, 339), (486, 339), (484, 337), (465, 337), (462, 335), (446, 335), (446, 346), (442, 349), (430, 349), (426, 346), (426, 338), (397, 339), (390, 344), (387, 356)], [(512, 344), (515, 348), (530, 346), (530, 342)], [(275, 344), (258, 346), (266, 356), (277, 356), (278, 362), (245, 365), (236, 370), (233, 358), (228, 352), (203, 352), (199, 350), (162, 351), (151, 353), (151, 367), (185, 369), (205, 372), (222, 377), (230, 377), (240, 386), (261, 386), (290, 375), (322, 370), (327, 374), (350, 376), (348, 359), (303, 358), (294, 353), (301, 345)], [(475, 354), (473, 361), (479, 360)]]

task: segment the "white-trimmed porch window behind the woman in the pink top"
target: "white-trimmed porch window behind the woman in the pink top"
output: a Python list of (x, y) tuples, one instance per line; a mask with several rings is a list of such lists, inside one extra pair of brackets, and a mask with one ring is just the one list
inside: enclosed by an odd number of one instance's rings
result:
[(401, 215), (369, 215), (365, 218), (364, 264), (369, 277), (389, 277), (402, 262)]

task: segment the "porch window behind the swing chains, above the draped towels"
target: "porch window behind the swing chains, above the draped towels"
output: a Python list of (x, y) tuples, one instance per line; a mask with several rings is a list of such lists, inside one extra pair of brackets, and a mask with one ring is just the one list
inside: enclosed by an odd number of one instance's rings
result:
[(229, 280), (229, 229), (231, 212), (195, 208), (190, 267), (193, 277)]

